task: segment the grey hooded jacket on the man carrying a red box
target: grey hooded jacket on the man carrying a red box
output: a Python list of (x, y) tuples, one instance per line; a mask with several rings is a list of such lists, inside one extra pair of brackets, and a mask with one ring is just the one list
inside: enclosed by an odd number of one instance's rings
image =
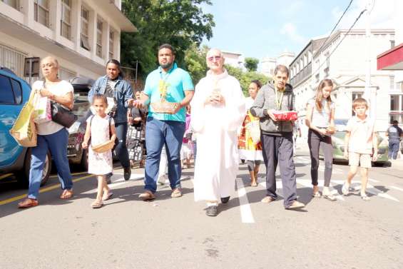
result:
[[(280, 111), (292, 111), (294, 110), (294, 105), (295, 96), (292, 92), (292, 86), (286, 84)], [(267, 83), (265, 86), (262, 86), (257, 93), (255, 102), (250, 108), (250, 113), (260, 118), (260, 129), (262, 133), (279, 136), (281, 133), (292, 132), (292, 121), (272, 121), (267, 115), (267, 111), (271, 109), (278, 110), (275, 101), (275, 88), (273, 84)]]

